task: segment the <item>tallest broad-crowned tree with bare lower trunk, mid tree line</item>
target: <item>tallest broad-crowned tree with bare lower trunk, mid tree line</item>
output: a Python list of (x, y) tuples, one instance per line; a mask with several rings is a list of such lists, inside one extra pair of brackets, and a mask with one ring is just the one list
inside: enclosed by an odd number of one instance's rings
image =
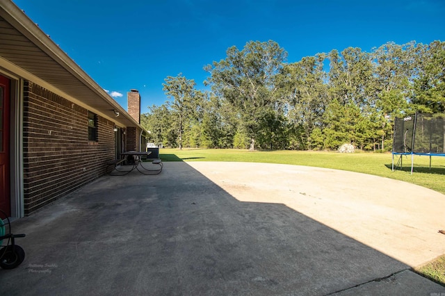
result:
[(275, 76), (286, 56), (277, 42), (250, 41), (241, 51), (230, 47), (225, 60), (204, 67), (210, 74), (206, 84), (238, 113), (239, 123), (251, 139), (251, 150), (261, 129), (259, 115), (275, 103)]

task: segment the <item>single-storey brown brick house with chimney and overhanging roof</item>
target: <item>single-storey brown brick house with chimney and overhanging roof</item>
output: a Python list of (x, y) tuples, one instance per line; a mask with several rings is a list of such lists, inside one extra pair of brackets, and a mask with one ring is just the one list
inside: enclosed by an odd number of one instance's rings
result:
[(140, 95), (129, 113), (22, 10), (0, 1), (0, 209), (24, 217), (145, 147)]

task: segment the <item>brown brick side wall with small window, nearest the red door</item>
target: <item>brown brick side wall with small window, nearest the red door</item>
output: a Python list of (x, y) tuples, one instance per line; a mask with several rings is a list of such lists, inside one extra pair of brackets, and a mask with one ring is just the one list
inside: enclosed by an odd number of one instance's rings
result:
[(99, 116), (90, 142), (87, 109), (28, 81), (23, 120), (26, 215), (105, 174), (115, 158), (113, 122)]

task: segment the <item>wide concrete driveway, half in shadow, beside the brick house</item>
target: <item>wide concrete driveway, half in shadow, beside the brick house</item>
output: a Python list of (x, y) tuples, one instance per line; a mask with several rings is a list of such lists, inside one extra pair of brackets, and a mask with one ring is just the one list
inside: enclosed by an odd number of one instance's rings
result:
[(17, 220), (0, 295), (432, 295), (445, 196), (339, 170), (165, 163)]

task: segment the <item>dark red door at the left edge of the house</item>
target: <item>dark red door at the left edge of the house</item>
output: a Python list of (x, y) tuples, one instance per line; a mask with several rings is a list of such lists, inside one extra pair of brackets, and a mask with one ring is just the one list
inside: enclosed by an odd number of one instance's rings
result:
[[(10, 213), (9, 188), (9, 85), (10, 81), (0, 75), (0, 210)], [(0, 215), (3, 219), (3, 215)]]

